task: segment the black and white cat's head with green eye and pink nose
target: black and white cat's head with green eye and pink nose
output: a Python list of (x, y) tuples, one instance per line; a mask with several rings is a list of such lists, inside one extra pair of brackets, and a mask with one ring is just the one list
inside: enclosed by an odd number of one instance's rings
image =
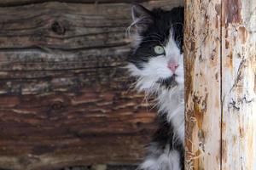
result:
[(183, 8), (132, 8), (135, 47), (128, 58), (139, 90), (183, 86)]

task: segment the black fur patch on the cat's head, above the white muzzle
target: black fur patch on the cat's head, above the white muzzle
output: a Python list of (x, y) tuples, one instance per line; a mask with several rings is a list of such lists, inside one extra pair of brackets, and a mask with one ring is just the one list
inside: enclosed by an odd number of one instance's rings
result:
[(172, 8), (171, 11), (160, 8), (154, 8), (152, 11), (145, 8), (142, 10), (144, 10), (142, 12), (144, 13), (143, 20), (136, 25), (143, 26), (143, 30), (139, 32), (143, 39), (139, 47), (133, 50), (128, 61), (136, 65), (137, 68), (143, 69), (142, 62), (148, 62), (149, 56), (157, 56), (154, 53), (154, 46), (166, 44), (170, 36), (170, 29), (174, 33), (177, 47), (183, 53), (183, 7)]

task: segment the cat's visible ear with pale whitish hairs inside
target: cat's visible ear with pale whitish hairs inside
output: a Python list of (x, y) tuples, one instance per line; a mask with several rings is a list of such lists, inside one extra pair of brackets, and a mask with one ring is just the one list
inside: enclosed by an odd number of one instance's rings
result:
[(140, 34), (145, 31), (150, 24), (153, 23), (153, 16), (151, 12), (142, 5), (136, 4), (131, 8), (132, 26), (136, 26), (137, 33)]

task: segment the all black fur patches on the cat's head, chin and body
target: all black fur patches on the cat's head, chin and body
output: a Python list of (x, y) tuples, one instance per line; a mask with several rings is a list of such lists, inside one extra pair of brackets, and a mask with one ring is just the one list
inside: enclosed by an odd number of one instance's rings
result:
[[(148, 62), (149, 57), (157, 56), (154, 53), (154, 46), (165, 45), (170, 37), (170, 29), (177, 43), (177, 47), (183, 53), (183, 7), (172, 8), (170, 11), (165, 11), (160, 8), (155, 8), (152, 11), (139, 6), (139, 11), (136, 11), (135, 17), (141, 17), (137, 25), (138, 34), (142, 37), (142, 42), (133, 49), (128, 61), (133, 63), (139, 69), (143, 69), (143, 62)], [(166, 80), (161, 80), (161, 84), (166, 88), (176, 86), (174, 74)], [(166, 149), (166, 145), (170, 145), (170, 150), (179, 152), (180, 162), (177, 162), (183, 167), (184, 149), (183, 141), (177, 141), (174, 136), (172, 123), (167, 121), (166, 114), (160, 113), (159, 128), (154, 133), (154, 138), (151, 144), (148, 144), (148, 156), (159, 157)]]

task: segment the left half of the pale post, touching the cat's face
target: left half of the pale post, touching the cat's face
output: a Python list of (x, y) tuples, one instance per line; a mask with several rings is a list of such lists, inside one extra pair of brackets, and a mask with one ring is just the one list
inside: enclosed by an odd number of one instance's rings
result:
[(220, 169), (221, 0), (185, 1), (185, 169)]

